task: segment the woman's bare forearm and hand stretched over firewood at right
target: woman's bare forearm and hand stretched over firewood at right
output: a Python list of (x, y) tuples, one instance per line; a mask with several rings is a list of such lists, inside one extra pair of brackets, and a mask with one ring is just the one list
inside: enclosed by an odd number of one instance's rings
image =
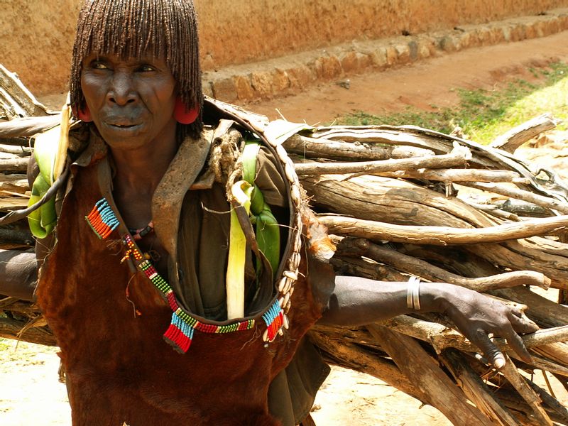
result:
[[(334, 293), (320, 323), (363, 325), (415, 312), (412, 302), (408, 302), (408, 288), (409, 283), (337, 276)], [(412, 300), (412, 289), (410, 292)], [(497, 368), (503, 366), (505, 357), (488, 334), (506, 338), (521, 359), (530, 361), (519, 334), (535, 332), (538, 326), (519, 308), (447, 283), (420, 283), (420, 293), (415, 295), (420, 297), (421, 312), (447, 315), (459, 332), (478, 346)]]

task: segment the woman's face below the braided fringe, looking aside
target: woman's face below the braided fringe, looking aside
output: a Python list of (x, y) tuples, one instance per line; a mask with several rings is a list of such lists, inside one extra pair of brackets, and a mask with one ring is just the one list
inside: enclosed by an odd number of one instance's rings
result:
[(175, 139), (175, 87), (162, 58), (92, 54), (83, 61), (82, 92), (112, 150), (158, 148)]

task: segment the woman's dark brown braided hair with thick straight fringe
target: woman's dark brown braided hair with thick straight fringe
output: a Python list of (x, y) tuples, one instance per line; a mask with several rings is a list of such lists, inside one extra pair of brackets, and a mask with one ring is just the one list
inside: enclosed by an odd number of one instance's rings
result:
[(200, 115), (178, 124), (178, 138), (197, 138), (203, 127), (203, 95), (197, 14), (192, 0), (86, 0), (77, 21), (70, 97), (74, 111), (84, 109), (82, 62), (91, 53), (136, 58), (163, 55), (178, 83), (178, 96)]

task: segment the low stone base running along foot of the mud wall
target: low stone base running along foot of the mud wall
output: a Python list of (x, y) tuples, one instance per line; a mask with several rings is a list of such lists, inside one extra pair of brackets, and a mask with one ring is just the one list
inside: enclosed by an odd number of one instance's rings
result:
[(224, 102), (271, 99), (368, 70), (385, 70), (467, 48), (540, 38), (568, 30), (568, 9), (452, 31), (357, 41), (325, 50), (204, 72), (204, 93)]

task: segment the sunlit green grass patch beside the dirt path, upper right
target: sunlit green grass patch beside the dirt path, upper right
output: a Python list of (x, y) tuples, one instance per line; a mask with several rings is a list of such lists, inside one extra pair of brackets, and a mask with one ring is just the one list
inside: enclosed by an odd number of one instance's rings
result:
[(550, 112), (564, 121), (559, 129), (567, 129), (568, 64), (556, 62), (545, 69), (529, 68), (529, 71), (538, 78), (537, 82), (518, 79), (494, 90), (456, 89), (460, 99), (457, 107), (436, 111), (408, 107), (405, 111), (381, 116), (358, 111), (337, 120), (336, 124), (414, 125), (442, 133), (450, 133), (459, 126), (471, 140), (490, 143), (514, 126)]

